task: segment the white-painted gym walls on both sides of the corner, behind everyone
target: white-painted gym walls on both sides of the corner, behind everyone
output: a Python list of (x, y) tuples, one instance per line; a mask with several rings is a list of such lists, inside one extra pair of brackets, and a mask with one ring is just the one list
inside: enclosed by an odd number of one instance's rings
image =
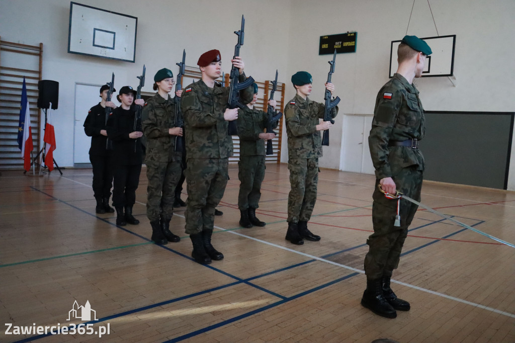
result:
[[(318, 56), (322, 35), (357, 31), (357, 52), (339, 54), (333, 82), (340, 96), (340, 114), (371, 114), (375, 95), (388, 80), (390, 42), (406, 34), (412, 0), (82, 0), (80, 3), (138, 17), (136, 63), (111, 61), (67, 53), (70, 1), (0, 0), (3, 40), (44, 44), (43, 78), (59, 81), (59, 109), (54, 115), (56, 160), (73, 165), (74, 86), (76, 82), (104, 83), (116, 74), (116, 88), (136, 85), (135, 76), (147, 65), (144, 91), (151, 92), (151, 76), (162, 67), (174, 73), (186, 49), (186, 64), (218, 48), (229, 71), (234, 53), (233, 31), (245, 14), (242, 57), (248, 75), (271, 79), (276, 68), (285, 82), (286, 99), (295, 95), (290, 76), (299, 70), (313, 75), (312, 98), (323, 99), (330, 56)], [(457, 35), (454, 73), (456, 87), (445, 77), (417, 82), (426, 110), (514, 111), (515, 1), (431, 0), (438, 34)], [(210, 24), (211, 23), (211, 24)], [(408, 35), (437, 36), (425, 0), (415, 1)], [(94, 103), (92, 104), (94, 105)], [(85, 111), (88, 109), (84, 109)], [(343, 116), (342, 116), (343, 117)], [(338, 169), (342, 156), (342, 117), (331, 129), (322, 167)], [(59, 118), (59, 119), (58, 119)], [(513, 142), (515, 146), (515, 142)], [(286, 139), (282, 162), (287, 161)], [(508, 188), (515, 190), (515, 149)]]

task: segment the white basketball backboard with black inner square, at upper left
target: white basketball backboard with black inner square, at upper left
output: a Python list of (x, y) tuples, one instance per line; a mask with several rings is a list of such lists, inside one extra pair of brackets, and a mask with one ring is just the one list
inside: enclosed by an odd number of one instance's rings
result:
[(70, 3), (68, 53), (133, 62), (138, 18)]

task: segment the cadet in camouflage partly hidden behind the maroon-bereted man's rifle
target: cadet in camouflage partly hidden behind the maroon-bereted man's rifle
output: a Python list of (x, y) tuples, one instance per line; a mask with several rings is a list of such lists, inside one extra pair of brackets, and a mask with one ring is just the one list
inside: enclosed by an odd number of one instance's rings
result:
[[(250, 104), (238, 110), (239, 161), (238, 179), (239, 194), (238, 208), (241, 214), (239, 225), (251, 228), (252, 225), (263, 227), (264, 221), (256, 218), (256, 209), (261, 198), (261, 183), (265, 178), (265, 140), (271, 140), (276, 135), (265, 133), (268, 125), (267, 112), (254, 108), (258, 100), (258, 85), (253, 83), (254, 97)], [(269, 101), (270, 106), (276, 107), (276, 100)], [(277, 126), (277, 122), (274, 127)]]

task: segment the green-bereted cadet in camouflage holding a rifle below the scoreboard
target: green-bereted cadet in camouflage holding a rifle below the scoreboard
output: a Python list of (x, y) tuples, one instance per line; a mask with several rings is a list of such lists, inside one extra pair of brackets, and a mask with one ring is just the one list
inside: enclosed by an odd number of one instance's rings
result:
[[(310, 100), (313, 79), (310, 73), (297, 72), (291, 76), (297, 95), (284, 108), (286, 134), (288, 135), (288, 169), (290, 171), (291, 191), (288, 195), (288, 231), (286, 237), (293, 244), (320, 241), (320, 236), (307, 229), (307, 221), (317, 200), (318, 158), (322, 156), (320, 131), (329, 130), (331, 122), (323, 119), (325, 105)], [(325, 83), (331, 93), (332, 83)], [(332, 109), (336, 117), (338, 107)]]

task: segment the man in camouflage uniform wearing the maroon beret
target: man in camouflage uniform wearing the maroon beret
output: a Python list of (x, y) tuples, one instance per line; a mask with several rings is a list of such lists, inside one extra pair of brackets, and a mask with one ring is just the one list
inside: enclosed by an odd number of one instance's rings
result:
[[(245, 81), (244, 62), (231, 60)], [(238, 117), (237, 109), (228, 109), (229, 88), (215, 80), (221, 74), (218, 50), (202, 54), (197, 62), (202, 79), (184, 88), (181, 108), (184, 113), (186, 142), (186, 233), (193, 244), (192, 256), (200, 264), (222, 260), (224, 255), (211, 245), (215, 207), (224, 196), (229, 179), (229, 157), (233, 153), (229, 121)], [(240, 101), (252, 100), (252, 85), (240, 91)]]

